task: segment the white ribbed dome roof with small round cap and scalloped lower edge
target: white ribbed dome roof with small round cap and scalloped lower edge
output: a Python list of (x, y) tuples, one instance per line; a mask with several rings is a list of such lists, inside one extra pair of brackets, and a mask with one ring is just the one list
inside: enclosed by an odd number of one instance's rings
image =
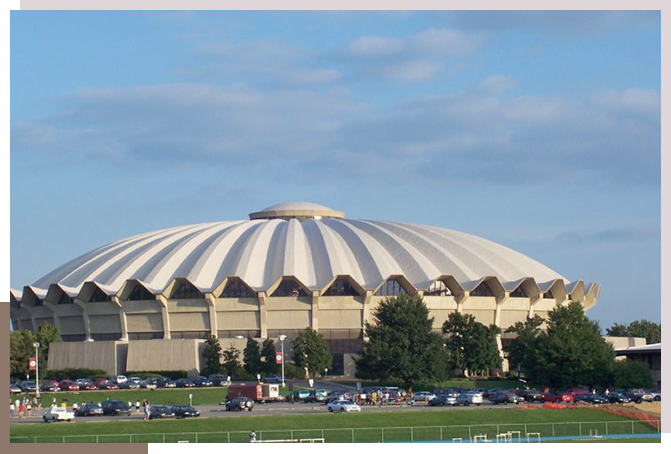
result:
[(117, 241), (66, 263), (33, 287), (58, 284), (74, 294), (85, 282), (94, 282), (116, 294), (133, 279), (160, 293), (174, 279), (186, 278), (208, 292), (235, 276), (263, 291), (293, 276), (321, 290), (334, 277), (349, 275), (366, 290), (390, 276), (404, 276), (422, 290), (444, 275), (463, 288), (486, 277), (496, 277), (504, 287), (523, 278), (539, 284), (563, 279), (525, 255), (453, 230), (344, 219), (342, 212), (306, 202), (274, 205), (250, 216), (249, 221), (175, 227)]

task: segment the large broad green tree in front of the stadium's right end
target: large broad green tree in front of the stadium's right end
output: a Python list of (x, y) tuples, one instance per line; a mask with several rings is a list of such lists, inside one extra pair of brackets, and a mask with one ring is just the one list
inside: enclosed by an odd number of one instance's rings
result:
[(548, 313), (547, 330), (538, 335), (529, 355), (530, 380), (554, 388), (606, 386), (612, 381), (615, 351), (589, 320), (582, 304), (572, 301)]

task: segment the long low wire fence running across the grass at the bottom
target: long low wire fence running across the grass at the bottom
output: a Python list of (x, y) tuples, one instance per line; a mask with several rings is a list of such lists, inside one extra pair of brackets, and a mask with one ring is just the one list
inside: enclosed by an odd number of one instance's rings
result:
[[(654, 421), (585, 421), (527, 424), (476, 424), (463, 426), (430, 427), (368, 427), (346, 429), (294, 429), (260, 430), (257, 440), (286, 440), (323, 438), (325, 443), (370, 443), (395, 441), (438, 441), (463, 439), (471, 440), (476, 435), (496, 435), (519, 432), (523, 438), (528, 434), (539, 434), (541, 438), (661, 433), (661, 420)], [(138, 434), (98, 434), (59, 435), (35, 437), (10, 437), (11, 443), (227, 443), (249, 442), (249, 432), (181, 432), (181, 433), (138, 433)]]

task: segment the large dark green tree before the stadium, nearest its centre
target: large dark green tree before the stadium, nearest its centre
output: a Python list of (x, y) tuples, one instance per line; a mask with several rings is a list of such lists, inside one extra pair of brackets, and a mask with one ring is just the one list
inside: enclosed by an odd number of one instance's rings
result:
[(443, 339), (433, 332), (433, 318), (423, 299), (410, 295), (386, 298), (365, 323), (361, 356), (355, 360), (357, 376), (403, 381), (411, 388), (420, 380), (443, 379), (446, 357)]

